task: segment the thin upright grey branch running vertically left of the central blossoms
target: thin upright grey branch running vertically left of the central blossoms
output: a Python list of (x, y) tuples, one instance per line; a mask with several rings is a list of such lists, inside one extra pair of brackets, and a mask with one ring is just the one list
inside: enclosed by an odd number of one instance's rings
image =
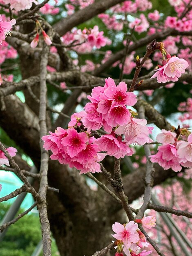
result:
[(41, 62), (40, 62), (40, 104), (39, 104), (39, 126), (40, 126), (40, 149), (41, 149), (41, 163), (40, 163), (40, 188), (39, 195), (41, 202), (38, 203), (39, 217), (41, 222), (43, 255), (51, 256), (51, 234), (50, 225), (47, 216), (47, 171), (49, 162), (49, 153), (43, 148), (42, 136), (47, 134), (46, 123), (46, 109), (47, 109), (47, 63), (49, 56), (49, 46), (44, 42)]

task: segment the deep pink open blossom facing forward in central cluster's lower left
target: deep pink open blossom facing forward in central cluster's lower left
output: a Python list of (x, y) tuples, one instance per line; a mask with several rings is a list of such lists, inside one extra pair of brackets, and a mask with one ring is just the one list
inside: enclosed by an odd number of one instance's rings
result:
[(74, 157), (86, 148), (89, 138), (85, 132), (77, 132), (74, 128), (67, 130), (67, 136), (62, 139), (62, 144), (67, 147), (66, 152)]

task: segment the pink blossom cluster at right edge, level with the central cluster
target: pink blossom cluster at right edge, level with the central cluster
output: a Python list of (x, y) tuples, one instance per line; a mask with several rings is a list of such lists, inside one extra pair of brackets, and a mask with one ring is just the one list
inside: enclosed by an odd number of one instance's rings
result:
[(188, 132), (185, 132), (183, 140), (176, 138), (176, 133), (166, 130), (157, 135), (156, 139), (162, 146), (158, 147), (158, 152), (151, 155), (151, 162), (158, 163), (164, 170), (172, 168), (173, 171), (181, 171), (182, 166), (192, 168), (192, 133), (188, 136), (188, 141), (185, 137)]

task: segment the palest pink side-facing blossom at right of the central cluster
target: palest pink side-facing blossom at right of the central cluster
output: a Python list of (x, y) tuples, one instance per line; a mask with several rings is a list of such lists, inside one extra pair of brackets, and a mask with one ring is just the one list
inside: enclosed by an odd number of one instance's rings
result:
[(130, 121), (124, 126), (119, 126), (116, 130), (116, 134), (125, 134), (124, 141), (127, 144), (137, 143), (138, 145), (144, 145), (150, 143), (153, 140), (148, 136), (151, 134), (153, 127), (146, 126), (147, 120), (131, 118)]

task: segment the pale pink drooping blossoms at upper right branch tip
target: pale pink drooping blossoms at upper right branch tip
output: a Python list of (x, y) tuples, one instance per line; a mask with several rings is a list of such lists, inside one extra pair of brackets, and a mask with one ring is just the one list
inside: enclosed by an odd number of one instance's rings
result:
[(183, 58), (178, 58), (170, 54), (166, 54), (167, 60), (163, 60), (163, 66), (159, 66), (156, 73), (151, 77), (157, 78), (158, 83), (166, 83), (167, 81), (178, 81), (181, 74), (185, 73), (185, 69), (189, 66), (188, 62)]

